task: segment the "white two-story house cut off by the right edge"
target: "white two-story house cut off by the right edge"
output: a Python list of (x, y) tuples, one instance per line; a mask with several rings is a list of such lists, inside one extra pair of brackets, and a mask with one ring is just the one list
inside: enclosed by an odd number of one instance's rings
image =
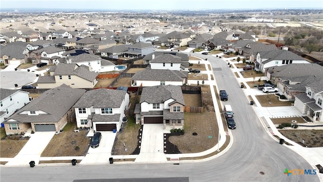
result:
[(295, 96), (294, 106), (313, 122), (323, 122), (323, 77), (317, 77), (305, 88), (305, 93)]

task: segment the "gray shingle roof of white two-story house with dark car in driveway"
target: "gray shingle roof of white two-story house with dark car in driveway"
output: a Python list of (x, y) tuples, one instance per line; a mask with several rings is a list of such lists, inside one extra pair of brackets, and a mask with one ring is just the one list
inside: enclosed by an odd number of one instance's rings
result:
[[(75, 108), (119, 108), (126, 97), (124, 90), (99, 88), (87, 91), (75, 103)], [(124, 108), (122, 108), (124, 109)]]

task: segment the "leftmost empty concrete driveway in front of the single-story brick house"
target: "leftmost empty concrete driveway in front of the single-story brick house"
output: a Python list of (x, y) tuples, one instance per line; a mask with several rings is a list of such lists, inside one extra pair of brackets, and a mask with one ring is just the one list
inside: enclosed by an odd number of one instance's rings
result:
[(42, 151), (46, 148), (54, 134), (55, 131), (37, 131), (31, 134), (26, 145), (6, 165), (29, 165), (30, 161), (35, 161), (35, 164), (38, 164)]

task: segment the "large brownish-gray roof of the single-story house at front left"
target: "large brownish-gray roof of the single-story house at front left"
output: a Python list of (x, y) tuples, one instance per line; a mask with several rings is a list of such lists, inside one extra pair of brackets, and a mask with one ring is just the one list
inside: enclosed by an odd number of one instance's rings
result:
[[(85, 91), (85, 89), (71, 88), (66, 84), (49, 89), (38, 98), (32, 100), (29, 104), (21, 108), (18, 112), (10, 116), (5, 122), (8, 122), (9, 119), (14, 119), (23, 123), (58, 122), (79, 100)], [(24, 111), (39, 110), (46, 114), (21, 114)]]

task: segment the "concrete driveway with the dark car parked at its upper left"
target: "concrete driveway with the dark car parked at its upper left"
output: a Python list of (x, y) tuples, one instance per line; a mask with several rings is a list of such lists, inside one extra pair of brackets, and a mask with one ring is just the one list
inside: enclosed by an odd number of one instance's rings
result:
[(100, 132), (102, 136), (99, 146), (97, 148), (90, 147), (80, 164), (109, 163), (117, 133), (113, 131)]

